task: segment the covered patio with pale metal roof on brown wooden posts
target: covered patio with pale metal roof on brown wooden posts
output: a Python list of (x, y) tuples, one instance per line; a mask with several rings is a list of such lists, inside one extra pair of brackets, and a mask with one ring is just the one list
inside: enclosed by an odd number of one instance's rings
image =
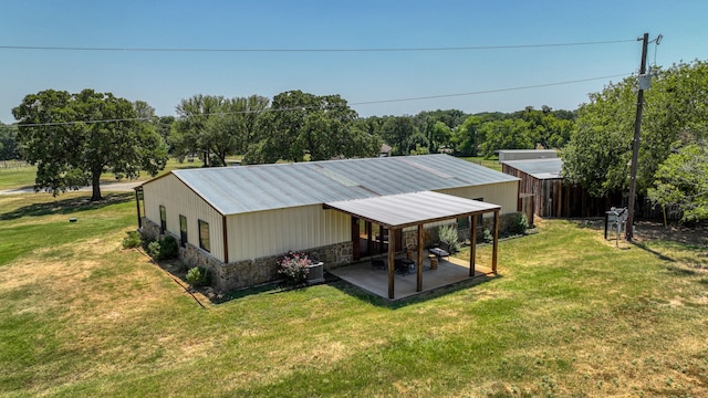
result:
[[(354, 218), (360, 218), (366, 221), (375, 222), (384, 228), (389, 230), (389, 234), (394, 234), (396, 231), (400, 231), (407, 227), (417, 227), (417, 244), (416, 244), (416, 255), (414, 261), (416, 263), (415, 266), (415, 276), (414, 275), (405, 275), (405, 274), (396, 274), (395, 270), (395, 261), (396, 261), (396, 249), (394, 244), (388, 244), (388, 252), (386, 255), (386, 274), (387, 274), (387, 297), (389, 300), (396, 298), (396, 287), (395, 284), (398, 282), (402, 285), (412, 284), (412, 280), (415, 277), (415, 292), (424, 291), (424, 252), (426, 252), (424, 248), (424, 226), (427, 223), (433, 223), (437, 221), (446, 221), (452, 219), (459, 219), (462, 217), (469, 218), (470, 221), (470, 260), (468, 266), (459, 266), (457, 265), (457, 272), (452, 272), (452, 274), (457, 274), (458, 277), (449, 279), (449, 283), (456, 283), (464, 279), (475, 277), (478, 275), (476, 270), (476, 253), (477, 253), (477, 219), (478, 216), (493, 212), (493, 227), (492, 227), (492, 237), (493, 237), (493, 247), (491, 254), (491, 272), (497, 273), (497, 252), (499, 245), (499, 211), (501, 209), (500, 206), (487, 203), (478, 200), (465, 199), (456, 196), (444, 195), (431, 191), (423, 191), (423, 192), (413, 192), (413, 193), (402, 193), (402, 195), (391, 195), (391, 196), (382, 196), (375, 198), (367, 199), (357, 199), (357, 200), (343, 200), (329, 202), (323, 205), (325, 209), (333, 209), (336, 211), (341, 211), (347, 213)], [(427, 260), (427, 255), (426, 255)], [(450, 263), (452, 264), (452, 263)], [(448, 265), (448, 264), (446, 264)], [(454, 264), (452, 264), (454, 265)], [(371, 262), (368, 263), (368, 268), (371, 269)], [(450, 268), (449, 270), (455, 270)], [(374, 270), (366, 270), (366, 273), (369, 274), (371, 279), (362, 279), (373, 282), (376, 280), (376, 273)], [(433, 272), (440, 271), (434, 270), (430, 272), (426, 272), (426, 274), (430, 274), (429, 281), (426, 279), (425, 289), (434, 289), (439, 287), (445, 284), (439, 284), (439, 281), (446, 281), (442, 276), (442, 272), (433, 275)], [(462, 279), (459, 277), (459, 273), (466, 274)], [(341, 276), (344, 280), (345, 273), (339, 270), (333, 270), (335, 275)], [(481, 273), (479, 273), (481, 274)], [(378, 273), (381, 275), (381, 272)], [(383, 276), (383, 275), (381, 275)], [(378, 277), (381, 277), (378, 276)], [(407, 280), (404, 280), (405, 277)], [(427, 275), (426, 275), (427, 277)], [(438, 281), (438, 282), (435, 282)], [(351, 281), (355, 283), (355, 281)], [(356, 284), (356, 283), (355, 283)], [(381, 282), (378, 283), (381, 284)], [(433, 286), (435, 284), (435, 286)], [(368, 283), (369, 287), (377, 285), (376, 283)], [(402, 287), (404, 287), (402, 286)], [(433, 287), (430, 287), (433, 286)], [(366, 286), (363, 286), (366, 289)], [(375, 287), (366, 289), (366, 290), (379, 290)], [(409, 289), (406, 289), (408, 291)], [(373, 291), (373, 293), (377, 293)], [(399, 292), (399, 294), (403, 292)], [(379, 293), (377, 293), (379, 294)], [(408, 293), (406, 296), (410, 295)]]

